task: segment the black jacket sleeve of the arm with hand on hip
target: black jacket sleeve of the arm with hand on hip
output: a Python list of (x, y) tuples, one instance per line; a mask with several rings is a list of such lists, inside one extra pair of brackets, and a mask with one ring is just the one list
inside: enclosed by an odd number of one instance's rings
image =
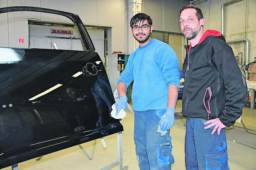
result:
[(242, 114), (245, 106), (247, 85), (234, 57), (232, 49), (227, 45), (213, 55), (217, 70), (226, 88), (226, 104), (220, 121), (227, 127), (232, 126)]

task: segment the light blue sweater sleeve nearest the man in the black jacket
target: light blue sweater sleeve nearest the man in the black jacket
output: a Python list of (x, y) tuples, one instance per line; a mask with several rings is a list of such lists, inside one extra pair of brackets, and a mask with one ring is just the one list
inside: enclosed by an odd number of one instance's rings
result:
[(165, 78), (165, 83), (167, 86), (174, 84), (179, 88), (180, 86), (180, 64), (176, 53), (171, 48), (171, 46), (163, 46), (158, 52), (158, 63), (160, 69)]

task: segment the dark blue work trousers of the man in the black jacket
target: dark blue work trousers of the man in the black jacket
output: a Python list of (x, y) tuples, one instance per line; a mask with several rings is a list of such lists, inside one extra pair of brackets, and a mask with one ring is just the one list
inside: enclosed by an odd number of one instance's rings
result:
[(211, 135), (204, 120), (187, 119), (185, 137), (186, 170), (229, 170), (226, 132)]

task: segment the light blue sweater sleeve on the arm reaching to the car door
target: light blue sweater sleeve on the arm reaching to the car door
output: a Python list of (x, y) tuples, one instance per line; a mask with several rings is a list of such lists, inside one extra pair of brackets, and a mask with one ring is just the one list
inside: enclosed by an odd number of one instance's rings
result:
[(117, 80), (117, 84), (119, 82), (124, 82), (124, 84), (126, 85), (127, 88), (131, 84), (132, 80), (134, 80), (133, 71), (132, 71), (133, 66), (131, 63), (132, 56), (133, 55), (131, 54), (130, 57), (128, 58), (128, 62), (125, 66), (125, 69), (124, 69), (124, 71), (122, 71), (121, 76)]

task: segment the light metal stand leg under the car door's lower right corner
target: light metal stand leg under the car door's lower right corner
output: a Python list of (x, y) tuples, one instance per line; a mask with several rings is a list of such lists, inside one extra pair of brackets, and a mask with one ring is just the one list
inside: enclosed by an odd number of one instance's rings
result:
[[(121, 123), (121, 121), (120, 121)], [(118, 132), (117, 133), (117, 161), (115, 161), (114, 163), (111, 163), (110, 165), (100, 169), (100, 170), (109, 170), (115, 166), (118, 166), (118, 170), (128, 170), (128, 166), (124, 166), (122, 167), (122, 132)]]

